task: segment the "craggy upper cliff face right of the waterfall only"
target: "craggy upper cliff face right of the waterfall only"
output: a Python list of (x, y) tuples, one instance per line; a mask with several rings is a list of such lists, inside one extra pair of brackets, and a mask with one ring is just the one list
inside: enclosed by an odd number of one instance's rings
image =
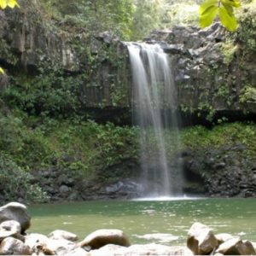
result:
[[(234, 55), (224, 51), (227, 32), (219, 23), (200, 30), (197, 27), (174, 26), (168, 32), (153, 32), (148, 43), (164, 41), (163, 49), (170, 54), (177, 83), (178, 108), (183, 118), (191, 113), (201, 113), (200, 119), (212, 120), (227, 117), (230, 120), (256, 113), (255, 102), (241, 102), (246, 84), (255, 84), (253, 68), (241, 62), (245, 55), (242, 45)], [(237, 46), (238, 47), (238, 46)], [(252, 53), (255, 57), (255, 53)], [(247, 82), (245, 82), (247, 81)], [(196, 115), (192, 115), (196, 119)], [(197, 117), (197, 119), (199, 119)], [(195, 122), (195, 121), (194, 121)]]

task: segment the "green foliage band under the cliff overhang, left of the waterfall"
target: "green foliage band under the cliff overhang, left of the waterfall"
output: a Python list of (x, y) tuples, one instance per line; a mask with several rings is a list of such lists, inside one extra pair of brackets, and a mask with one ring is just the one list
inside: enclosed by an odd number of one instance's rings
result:
[(137, 160), (137, 128), (15, 115), (0, 116), (0, 151), (27, 171), (55, 166), (76, 177), (94, 177), (123, 160)]

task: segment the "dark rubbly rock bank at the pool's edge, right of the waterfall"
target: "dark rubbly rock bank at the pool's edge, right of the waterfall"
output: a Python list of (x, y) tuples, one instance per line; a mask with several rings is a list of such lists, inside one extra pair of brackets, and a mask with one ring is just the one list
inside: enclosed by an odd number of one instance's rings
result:
[(256, 196), (256, 166), (243, 154), (245, 145), (207, 148), (188, 152), (183, 157), (184, 190), (212, 196)]

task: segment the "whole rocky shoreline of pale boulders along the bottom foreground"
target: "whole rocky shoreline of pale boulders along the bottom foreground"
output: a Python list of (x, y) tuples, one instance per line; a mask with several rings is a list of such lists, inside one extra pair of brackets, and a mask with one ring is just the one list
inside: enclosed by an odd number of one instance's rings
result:
[(31, 217), (25, 205), (10, 202), (0, 207), (0, 255), (256, 255), (255, 243), (230, 234), (214, 235), (204, 224), (191, 226), (187, 246), (131, 245), (122, 230), (96, 230), (79, 241), (65, 230), (49, 236), (28, 233)]

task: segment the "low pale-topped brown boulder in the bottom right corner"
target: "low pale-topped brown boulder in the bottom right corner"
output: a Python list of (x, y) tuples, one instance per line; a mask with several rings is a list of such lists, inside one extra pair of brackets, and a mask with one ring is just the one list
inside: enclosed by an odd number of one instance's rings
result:
[(255, 255), (253, 244), (250, 241), (241, 241), (240, 238), (233, 238), (221, 244), (216, 253), (224, 255)]

